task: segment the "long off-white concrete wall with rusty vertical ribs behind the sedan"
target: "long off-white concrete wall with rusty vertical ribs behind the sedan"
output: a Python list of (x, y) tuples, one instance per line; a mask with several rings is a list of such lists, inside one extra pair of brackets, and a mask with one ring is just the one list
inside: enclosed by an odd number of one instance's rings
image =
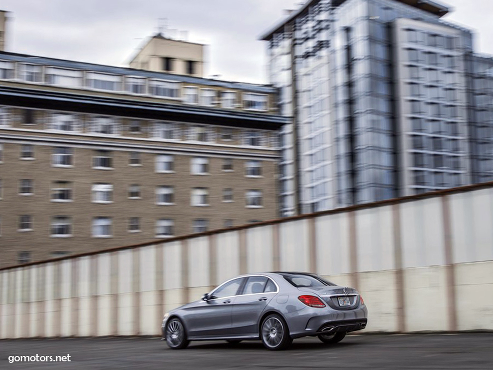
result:
[(493, 330), (493, 189), (450, 191), (0, 270), (0, 338), (159, 335), (247, 272), (357, 288), (366, 331)]

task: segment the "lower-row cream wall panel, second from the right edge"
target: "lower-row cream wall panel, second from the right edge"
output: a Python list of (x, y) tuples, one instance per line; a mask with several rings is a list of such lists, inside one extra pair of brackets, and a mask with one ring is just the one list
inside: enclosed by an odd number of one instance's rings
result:
[(448, 330), (445, 267), (405, 269), (403, 277), (407, 330)]

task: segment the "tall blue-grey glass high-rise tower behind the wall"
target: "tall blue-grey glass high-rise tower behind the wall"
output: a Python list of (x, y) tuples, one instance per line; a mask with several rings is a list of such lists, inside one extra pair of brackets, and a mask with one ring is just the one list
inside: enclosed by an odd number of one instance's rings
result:
[(311, 0), (262, 36), (281, 207), (306, 213), (493, 179), (493, 60), (428, 0)]

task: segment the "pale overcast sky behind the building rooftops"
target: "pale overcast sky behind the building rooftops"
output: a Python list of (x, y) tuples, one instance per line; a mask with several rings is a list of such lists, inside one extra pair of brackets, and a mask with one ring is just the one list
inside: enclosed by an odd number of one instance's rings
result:
[[(206, 77), (268, 83), (258, 37), (303, 0), (0, 0), (10, 11), (7, 51), (126, 66), (160, 22), (207, 44)], [(476, 32), (476, 51), (493, 54), (493, 1), (448, 0), (446, 16)], [(165, 18), (167, 21), (160, 21)]]

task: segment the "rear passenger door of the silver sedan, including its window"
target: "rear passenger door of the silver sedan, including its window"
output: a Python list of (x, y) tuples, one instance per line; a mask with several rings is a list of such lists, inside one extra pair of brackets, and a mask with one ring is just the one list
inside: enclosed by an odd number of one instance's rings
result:
[(260, 316), (277, 292), (277, 286), (269, 277), (249, 276), (233, 302), (233, 335), (257, 335)]

